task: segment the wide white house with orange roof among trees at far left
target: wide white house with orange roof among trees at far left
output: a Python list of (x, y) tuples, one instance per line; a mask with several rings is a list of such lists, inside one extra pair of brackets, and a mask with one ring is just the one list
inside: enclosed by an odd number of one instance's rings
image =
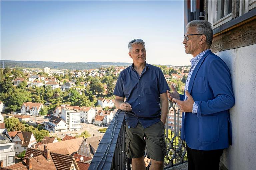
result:
[(44, 105), (42, 103), (32, 103), (32, 102), (26, 102), (23, 103), (20, 109), (21, 114), (29, 113), (30, 115), (39, 115), (39, 112), (41, 108), (43, 108)]

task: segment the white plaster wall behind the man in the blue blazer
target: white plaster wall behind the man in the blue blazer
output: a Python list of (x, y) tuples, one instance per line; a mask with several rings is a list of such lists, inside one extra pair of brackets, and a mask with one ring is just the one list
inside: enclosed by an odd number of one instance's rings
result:
[(230, 109), (233, 145), (221, 162), (229, 170), (256, 169), (256, 44), (215, 53), (228, 65), (235, 106)]

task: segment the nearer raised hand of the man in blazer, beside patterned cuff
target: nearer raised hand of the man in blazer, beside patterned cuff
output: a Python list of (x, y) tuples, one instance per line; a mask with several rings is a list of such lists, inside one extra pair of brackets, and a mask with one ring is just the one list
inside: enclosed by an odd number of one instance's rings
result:
[(172, 98), (172, 102), (177, 103), (179, 105), (181, 112), (192, 112), (193, 104), (194, 104), (195, 101), (187, 90), (186, 90), (185, 93), (188, 97), (187, 100), (182, 101), (182, 100), (179, 100), (179, 99), (176, 99), (176, 98)]

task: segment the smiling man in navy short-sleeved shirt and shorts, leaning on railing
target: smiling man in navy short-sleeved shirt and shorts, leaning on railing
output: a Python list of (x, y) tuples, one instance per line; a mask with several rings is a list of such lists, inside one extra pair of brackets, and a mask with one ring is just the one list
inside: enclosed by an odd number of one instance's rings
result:
[(128, 48), (133, 64), (120, 73), (114, 90), (115, 106), (126, 111), (126, 154), (134, 170), (145, 169), (147, 145), (150, 169), (163, 169), (169, 87), (161, 69), (146, 63), (143, 40), (132, 40)]

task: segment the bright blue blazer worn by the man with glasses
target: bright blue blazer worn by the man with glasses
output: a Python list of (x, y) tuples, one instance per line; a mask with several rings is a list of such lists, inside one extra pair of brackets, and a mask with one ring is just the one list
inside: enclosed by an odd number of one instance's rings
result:
[[(229, 109), (235, 104), (230, 71), (210, 50), (197, 63), (188, 91), (198, 105), (197, 114), (182, 113), (181, 138), (197, 150), (232, 145)], [(184, 100), (185, 95), (180, 95)]]

